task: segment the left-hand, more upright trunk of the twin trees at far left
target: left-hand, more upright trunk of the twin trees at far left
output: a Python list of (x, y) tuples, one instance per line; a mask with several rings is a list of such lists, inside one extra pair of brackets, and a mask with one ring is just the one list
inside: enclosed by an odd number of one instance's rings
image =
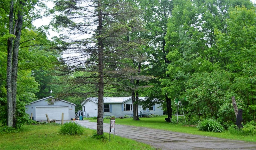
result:
[[(13, 34), (13, 0), (10, 2), (9, 33)], [(6, 68), (6, 92), (7, 92), (7, 125), (13, 126), (13, 101), (12, 101), (12, 42), (13, 37), (7, 41), (7, 68)]]

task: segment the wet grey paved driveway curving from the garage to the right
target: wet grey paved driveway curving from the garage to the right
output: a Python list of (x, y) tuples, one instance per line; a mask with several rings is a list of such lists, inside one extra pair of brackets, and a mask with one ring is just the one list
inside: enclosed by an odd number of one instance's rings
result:
[[(78, 124), (96, 129), (95, 122), (77, 121)], [(109, 132), (109, 124), (104, 123), (104, 132)], [(163, 131), (157, 129), (134, 127), (127, 125), (115, 126), (115, 135), (131, 138), (160, 149), (256, 149), (256, 143), (232, 141), (221, 138)]]

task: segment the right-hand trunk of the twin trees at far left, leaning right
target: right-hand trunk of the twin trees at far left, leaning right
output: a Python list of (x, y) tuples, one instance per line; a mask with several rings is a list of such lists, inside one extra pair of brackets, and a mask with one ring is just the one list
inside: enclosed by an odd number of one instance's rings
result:
[(23, 6), (24, 2), (20, 1), (21, 8), (18, 11), (18, 23), (15, 32), (15, 39), (12, 53), (12, 101), (13, 101), (13, 127), (16, 127), (16, 96), (17, 96), (17, 72), (18, 72), (18, 54), (20, 46), (20, 35), (23, 24)]

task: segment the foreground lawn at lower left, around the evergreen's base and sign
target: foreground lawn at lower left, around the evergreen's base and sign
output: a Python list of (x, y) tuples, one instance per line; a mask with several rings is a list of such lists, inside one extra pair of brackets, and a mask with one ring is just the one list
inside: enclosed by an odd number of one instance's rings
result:
[[(1, 133), (0, 149), (154, 149), (131, 139), (111, 135), (111, 142), (96, 140), (95, 130), (85, 129), (83, 135), (62, 135), (61, 125), (24, 125), (20, 133)], [(108, 136), (107, 133), (105, 133)]]

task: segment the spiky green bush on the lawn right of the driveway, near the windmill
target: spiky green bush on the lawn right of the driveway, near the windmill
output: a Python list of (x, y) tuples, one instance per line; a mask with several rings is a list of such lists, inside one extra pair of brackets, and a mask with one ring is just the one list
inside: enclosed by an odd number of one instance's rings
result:
[(223, 132), (224, 127), (215, 119), (204, 119), (199, 121), (196, 128), (200, 131)]

